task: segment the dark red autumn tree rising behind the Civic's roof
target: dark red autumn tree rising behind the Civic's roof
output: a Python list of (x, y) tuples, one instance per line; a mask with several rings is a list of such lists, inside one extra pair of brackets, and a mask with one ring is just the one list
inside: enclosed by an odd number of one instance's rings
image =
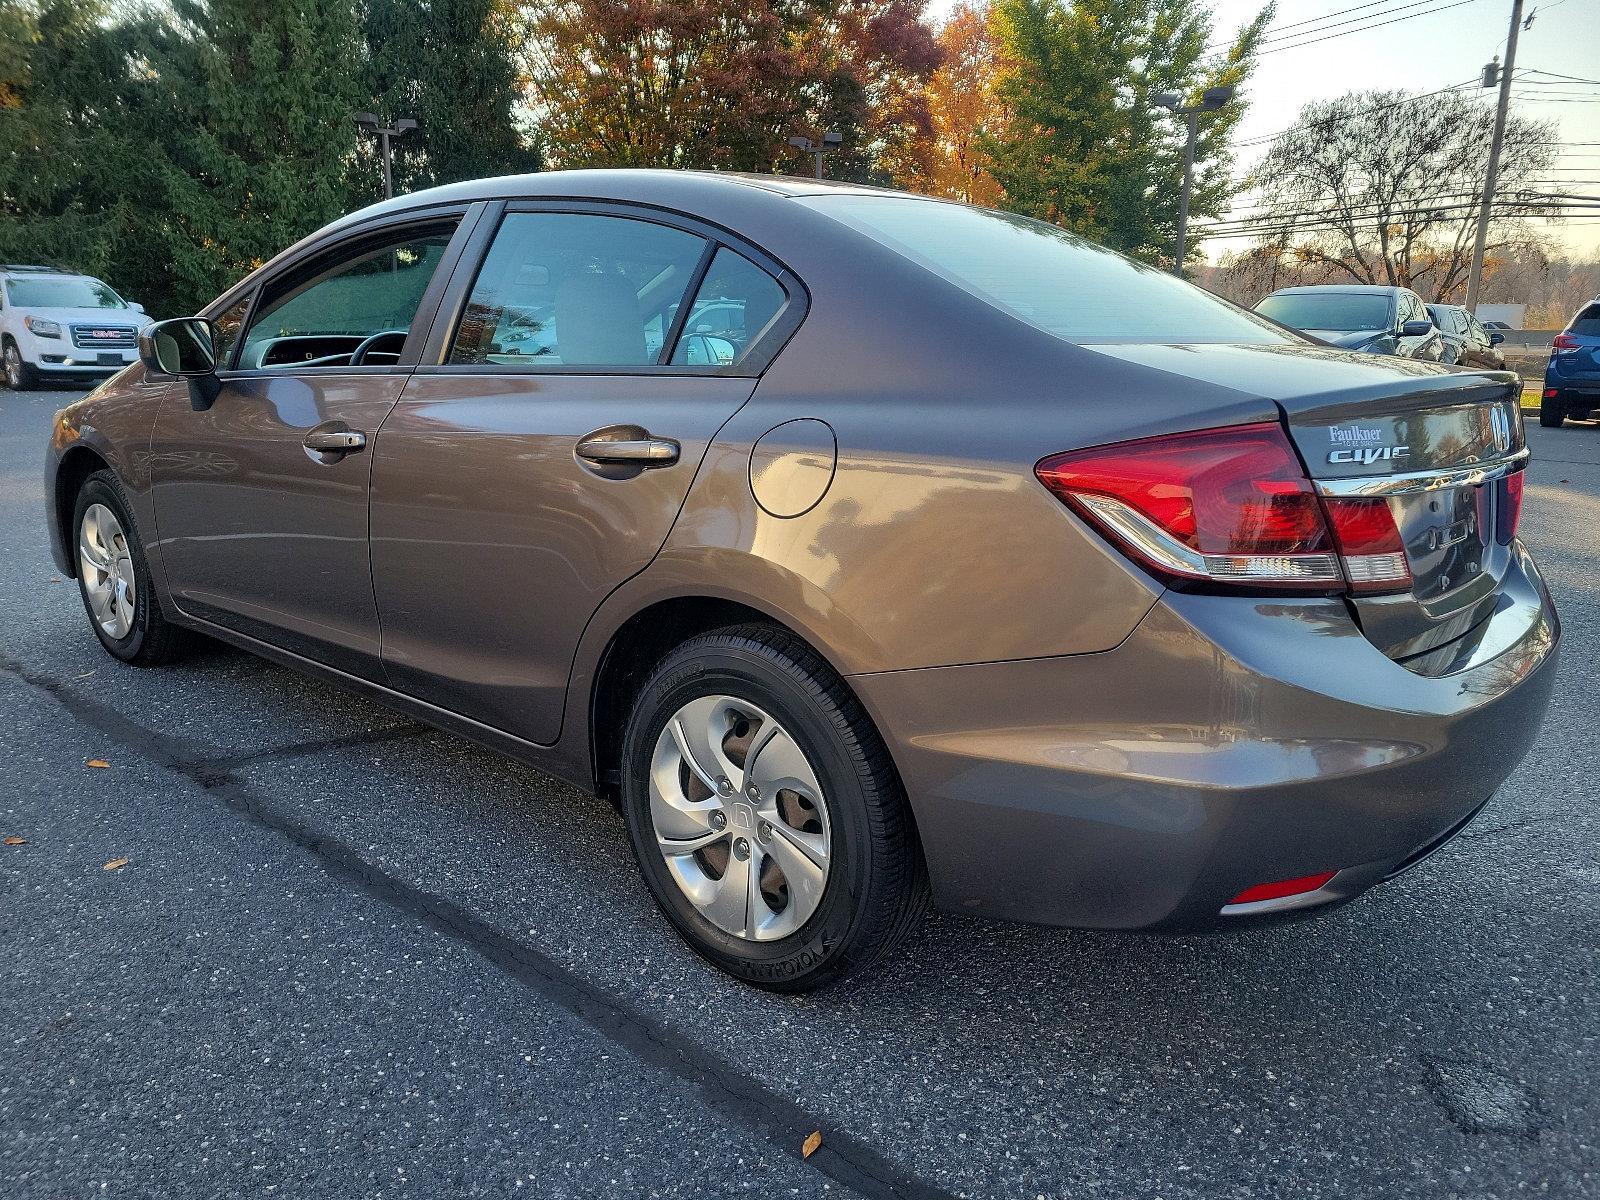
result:
[(531, 101), (562, 166), (802, 170), (838, 128), (843, 178), (893, 174), (938, 66), (915, 0), (541, 0)]

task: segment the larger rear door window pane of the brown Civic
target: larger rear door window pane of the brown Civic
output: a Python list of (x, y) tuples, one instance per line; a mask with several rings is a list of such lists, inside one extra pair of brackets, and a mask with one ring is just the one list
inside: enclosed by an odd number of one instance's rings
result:
[(590, 213), (509, 213), (472, 285), (450, 362), (653, 366), (706, 240)]

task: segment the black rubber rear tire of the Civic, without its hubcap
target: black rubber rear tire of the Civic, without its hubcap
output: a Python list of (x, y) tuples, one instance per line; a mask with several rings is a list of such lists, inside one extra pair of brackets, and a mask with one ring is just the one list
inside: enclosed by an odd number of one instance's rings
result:
[[(798, 742), (827, 797), (830, 867), (811, 917), (786, 938), (747, 941), (712, 925), (683, 894), (656, 845), (650, 765), (667, 720), (728, 694), (773, 715)], [(773, 992), (810, 992), (878, 963), (926, 909), (926, 869), (883, 739), (838, 675), (771, 626), (731, 626), (685, 642), (634, 702), (622, 744), (622, 811), (645, 883), (674, 928), (714, 966)]]

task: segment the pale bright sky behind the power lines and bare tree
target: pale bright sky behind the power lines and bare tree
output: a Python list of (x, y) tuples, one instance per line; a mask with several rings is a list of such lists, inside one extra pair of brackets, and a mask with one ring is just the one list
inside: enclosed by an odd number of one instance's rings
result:
[[(930, 13), (942, 18), (952, 3), (931, 0)], [(1261, 6), (1262, 0), (1214, 0), (1218, 40)], [(1510, 10), (1512, 0), (1280, 0), (1235, 141), (1280, 133), (1307, 101), (1370, 88), (1435, 91), (1477, 80), (1490, 58), (1504, 61)], [(1550, 190), (1600, 198), (1600, 0), (1525, 0), (1523, 19), (1530, 14), (1533, 26), (1517, 40), (1512, 112), (1560, 126), (1563, 144), (1549, 178), (1570, 186)], [(1554, 78), (1558, 75), (1590, 83)], [(1472, 93), (1493, 109), (1496, 90), (1475, 86)], [(1246, 171), (1266, 149), (1261, 142), (1240, 147), (1237, 170)], [(1539, 224), (1566, 254), (1600, 258), (1600, 210), (1584, 219)], [(1214, 258), (1243, 245), (1219, 238), (1206, 243), (1206, 251)]]

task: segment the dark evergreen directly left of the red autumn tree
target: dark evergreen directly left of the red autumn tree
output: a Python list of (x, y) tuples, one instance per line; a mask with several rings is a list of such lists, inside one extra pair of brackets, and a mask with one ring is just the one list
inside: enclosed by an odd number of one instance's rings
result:
[[(510, 0), (370, 0), (366, 88), (384, 120), (421, 130), (395, 144), (395, 190), (539, 170), (518, 128), (517, 61), (528, 29)], [(368, 178), (379, 178), (371, 147)]]

